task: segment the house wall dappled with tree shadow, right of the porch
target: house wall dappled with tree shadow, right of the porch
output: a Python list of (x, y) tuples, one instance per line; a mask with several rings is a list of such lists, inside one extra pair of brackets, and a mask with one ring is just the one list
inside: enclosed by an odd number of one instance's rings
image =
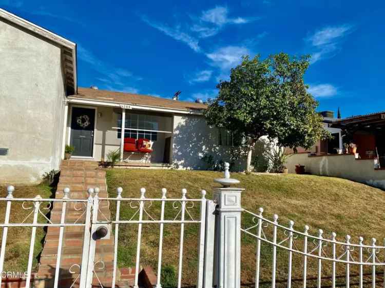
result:
[[(178, 169), (207, 169), (205, 154), (230, 161), (231, 147), (218, 145), (218, 129), (210, 128), (200, 115), (175, 115), (172, 163)], [(245, 159), (235, 162), (235, 170), (244, 168)]]

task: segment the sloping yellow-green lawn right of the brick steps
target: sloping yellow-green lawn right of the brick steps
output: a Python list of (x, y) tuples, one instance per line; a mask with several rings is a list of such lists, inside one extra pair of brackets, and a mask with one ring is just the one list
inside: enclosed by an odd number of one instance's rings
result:
[[(177, 171), (177, 170), (108, 170), (107, 183), (110, 196), (115, 196), (117, 187), (123, 187), (124, 197), (139, 197), (140, 188), (147, 189), (146, 197), (160, 197), (161, 188), (167, 188), (167, 196), (177, 198), (181, 189), (187, 189), (187, 197), (201, 197), (200, 191), (207, 191), (207, 198), (212, 197), (212, 187), (216, 186), (214, 178), (222, 177), (219, 172), (207, 171)], [(243, 208), (256, 212), (259, 207), (265, 210), (265, 217), (272, 218), (279, 215), (279, 223), (287, 225), (288, 220), (295, 221), (295, 228), (303, 231), (304, 225), (310, 226), (310, 233), (317, 234), (323, 229), (324, 237), (330, 237), (331, 232), (337, 233), (339, 240), (344, 236), (352, 236), (352, 242), (357, 242), (358, 236), (366, 239), (375, 237), (378, 243), (382, 242), (385, 228), (380, 225), (383, 218), (385, 194), (383, 191), (352, 182), (345, 179), (320, 177), (312, 175), (244, 175), (233, 173), (232, 177), (240, 180), (240, 187), (245, 191), (242, 194)], [(125, 206), (121, 208), (122, 217), (132, 215), (132, 210)], [(159, 205), (153, 204), (148, 209), (159, 215)], [(169, 207), (168, 211), (172, 210)], [(198, 209), (192, 209), (195, 215)], [(167, 211), (167, 210), (166, 210)], [(114, 217), (114, 203), (111, 203), (111, 213)], [(171, 215), (172, 212), (169, 212)], [(251, 222), (251, 219), (245, 219)], [(244, 222), (244, 223), (245, 223)], [(186, 284), (195, 282), (197, 264), (197, 233), (198, 227), (186, 225), (184, 246), (183, 281)], [(119, 263), (132, 265), (136, 253), (136, 225), (121, 225), (119, 233)], [(164, 240), (163, 264), (165, 270), (178, 269), (179, 227), (167, 225)], [(266, 230), (268, 232), (268, 228)], [(156, 225), (144, 225), (141, 264), (157, 267), (159, 228)], [(283, 236), (282, 236), (283, 237)], [(300, 239), (296, 240), (299, 241)], [(255, 239), (242, 234), (242, 282), (253, 283), (255, 273)], [(327, 250), (328, 248), (325, 248)], [(262, 246), (262, 280), (269, 286), (271, 277), (271, 247)], [(301, 278), (301, 257), (294, 257), (294, 277)], [(285, 286), (287, 254), (278, 252), (278, 280)], [(309, 260), (309, 277), (314, 276), (316, 262)], [(330, 275), (330, 266), (323, 266), (324, 276)], [(337, 267), (343, 273), (343, 267)], [(354, 268), (352, 268), (354, 272)], [(352, 272), (352, 273), (353, 273)], [(343, 277), (342, 277), (343, 278)], [(326, 281), (326, 280), (325, 280)], [(300, 282), (293, 286), (300, 286)]]

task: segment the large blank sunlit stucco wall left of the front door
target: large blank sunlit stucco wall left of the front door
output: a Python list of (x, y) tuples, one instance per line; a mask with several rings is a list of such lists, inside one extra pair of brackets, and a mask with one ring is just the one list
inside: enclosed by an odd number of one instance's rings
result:
[(61, 49), (0, 20), (0, 59), (0, 183), (35, 182), (61, 160)]

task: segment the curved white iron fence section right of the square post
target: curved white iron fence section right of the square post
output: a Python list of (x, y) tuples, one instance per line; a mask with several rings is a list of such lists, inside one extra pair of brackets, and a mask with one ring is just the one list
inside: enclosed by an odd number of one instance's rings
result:
[[(307, 286), (318, 288), (385, 287), (383, 277), (385, 275), (385, 246), (377, 245), (375, 238), (370, 240), (370, 244), (365, 244), (362, 237), (359, 237), (358, 242), (354, 243), (349, 235), (345, 236), (344, 241), (338, 241), (336, 233), (332, 233), (328, 237), (322, 230), (318, 230), (318, 235), (315, 236), (309, 234), (308, 225), (305, 225), (301, 232), (294, 229), (294, 221), (289, 221), (288, 226), (279, 224), (276, 214), (272, 220), (267, 219), (263, 217), (262, 208), (259, 209), (258, 214), (247, 210), (244, 210), (242, 214), (245, 214), (242, 219), (248, 218), (248, 220), (244, 221), (245, 226), (241, 228), (241, 231), (256, 240), (256, 288), (263, 286), (262, 282), (266, 284), (266, 279), (269, 278), (266, 271), (269, 271), (271, 275), (270, 286), (278, 286), (278, 251), (281, 251), (281, 254), (282, 251), (285, 252), (284, 257), (280, 257), (280, 260), (286, 258), (286, 269), (284, 269), (286, 276), (283, 278), (286, 279), (284, 286), (288, 288), (294, 285), (304, 288)], [(271, 255), (262, 256), (265, 254), (262, 253), (262, 244), (265, 248), (271, 248), (271, 251), (268, 250)], [(268, 260), (266, 261), (263, 257)], [(294, 265), (293, 257), (300, 260), (300, 265), (298, 263)], [(268, 265), (268, 267), (264, 267), (265, 274), (263, 275), (261, 275), (261, 260), (265, 260), (264, 264)], [(309, 264), (310, 261), (312, 261), (311, 264)], [(312, 277), (316, 275), (315, 284), (313, 279), (308, 279), (309, 268), (313, 270)], [(323, 269), (326, 271), (324, 272)], [(370, 270), (369, 273), (366, 273), (368, 270)], [(280, 272), (282, 272), (282, 268)], [(295, 283), (292, 279), (293, 274), (300, 276)], [(344, 279), (341, 279), (341, 276)], [(352, 278), (356, 280), (352, 281)]]

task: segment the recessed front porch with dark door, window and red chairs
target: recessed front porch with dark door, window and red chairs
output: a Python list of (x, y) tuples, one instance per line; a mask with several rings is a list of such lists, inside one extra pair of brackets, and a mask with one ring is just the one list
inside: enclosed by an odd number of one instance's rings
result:
[[(102, 164), (118, 151), (119, 168), (168, 168), (171, 162), (173, 115), (161, 111), (69, 103), (65, 144), (74, 147), (71, 159)], [(122, 133), (124, 131), (124, 134)], [(130, 143), (128, 143), (130, 142)], [(139, 143), (148, 143), (140, 149)]]

